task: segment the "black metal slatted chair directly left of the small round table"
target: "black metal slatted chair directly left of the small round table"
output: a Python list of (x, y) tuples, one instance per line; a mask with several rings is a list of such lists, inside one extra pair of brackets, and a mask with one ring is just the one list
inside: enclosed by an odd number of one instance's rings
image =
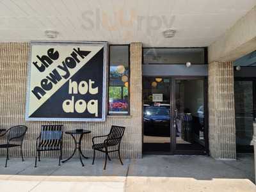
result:
[(36, 159), (35, 167), (40, 159), (40, 152), (58, 150), (60, 152), (59, 165), (62, 159), (62, 135), (63, 125), (42, 125), (41, 132), (38, 138), (36, 138)]

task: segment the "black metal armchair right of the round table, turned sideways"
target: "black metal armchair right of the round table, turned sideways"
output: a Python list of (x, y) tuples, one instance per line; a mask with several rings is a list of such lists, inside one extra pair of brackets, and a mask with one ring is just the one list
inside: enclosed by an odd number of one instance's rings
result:
[[(104, 136), (95, 136), (92, 138), (92, 143), (93, 143), (93, 145), (92, 145), (92, 148), (93, 148), (92, 164), (94, 164), (94, 160), (95, 160), (95, 150), (104, 152), (106, 154), (104, 170), (106, 170), (107, 160), (109, 159), (109, 161), (111, 161), (111, 159), (108, 155), (111, 152), (118, 152), (118, 157), (119, 157), (120, 163), (123, 164), (122, 159), (120, 157), (120, 143), (121, 143), (122, 137), (124, 136), (124, 130), (125, 130), (125, 127), (112, 125), (109, 134), (104, 135)], [(95, 143), (94, 140), (96, 138), (106, 138), (106, 140), (104, 140), (103, 143)], [(108, 150), (109, 147), (111, 147), (110, 150)]]

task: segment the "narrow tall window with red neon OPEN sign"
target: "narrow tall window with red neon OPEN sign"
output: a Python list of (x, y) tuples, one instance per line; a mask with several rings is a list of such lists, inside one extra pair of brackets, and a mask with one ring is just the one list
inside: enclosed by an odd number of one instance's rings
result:
[(109, 115), (129, 114), (129, 45), (109, 46)]

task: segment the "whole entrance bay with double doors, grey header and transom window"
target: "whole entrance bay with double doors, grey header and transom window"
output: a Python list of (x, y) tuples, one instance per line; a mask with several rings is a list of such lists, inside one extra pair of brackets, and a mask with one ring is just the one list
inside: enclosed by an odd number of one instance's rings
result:
[(208, 154), (204, 51), (150, 49), (143, 49), (143, 154)]

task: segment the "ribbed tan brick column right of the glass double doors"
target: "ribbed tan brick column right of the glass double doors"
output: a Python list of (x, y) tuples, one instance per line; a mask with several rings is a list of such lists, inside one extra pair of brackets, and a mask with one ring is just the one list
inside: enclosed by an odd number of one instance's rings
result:
[(234, 69), (232, 62), (209, 64), (209, 150), (215, 159), (236, 159)]

